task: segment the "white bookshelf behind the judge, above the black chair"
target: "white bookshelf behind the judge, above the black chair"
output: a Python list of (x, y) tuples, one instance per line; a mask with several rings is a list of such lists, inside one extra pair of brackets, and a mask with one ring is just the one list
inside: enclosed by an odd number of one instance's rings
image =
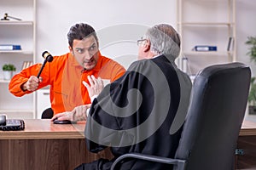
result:
[[(236, 0), (177, 0), (177, 31), (182, 41), (178, 65), (189, 75), (236, 61)], [(201, 45), (217, 50), (193, 50)]]

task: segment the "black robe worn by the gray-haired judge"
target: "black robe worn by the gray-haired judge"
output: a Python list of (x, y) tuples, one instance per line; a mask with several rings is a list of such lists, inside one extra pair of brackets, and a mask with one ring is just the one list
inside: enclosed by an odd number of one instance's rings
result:
[[(132, 63), (123, 77), (94, 99), (84, 132), (87, 148), (98, 152), (109, 146), (115, 158), (129, 152), (173, 157), (182, 123), (172, 134), (170, 128), (178, 108), (187, 111), (190, 90), (189, 77), (164, 55)], [(186, 113), (182, 114), (184, 119)], [(77, 169), (110, 169), (113, 160), (99, 159)], [(170, 165), (128, 160), (119, 169), (170, 169)]]

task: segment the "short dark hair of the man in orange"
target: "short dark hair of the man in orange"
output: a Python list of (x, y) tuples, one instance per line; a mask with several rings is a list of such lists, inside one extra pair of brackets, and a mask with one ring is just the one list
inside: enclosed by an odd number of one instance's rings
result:
[(67, 33), (68, 44), (71, 48), (73, 48), (73, 40), (82, 40), (84, 37), (93, 36), (98, 43), (98, 37), (96, 36), (96, 32), (94, 28), (88, 24), (80, 23), (72, 26)]

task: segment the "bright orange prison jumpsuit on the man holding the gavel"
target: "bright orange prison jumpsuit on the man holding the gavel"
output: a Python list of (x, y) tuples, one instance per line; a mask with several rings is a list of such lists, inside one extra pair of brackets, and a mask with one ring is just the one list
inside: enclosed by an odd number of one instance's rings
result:
[[(20, 86), (32, 75), (37, 76), (41, 66), (42, 64), (32, 65), (16, 74), (9, 82), (9, 92), (18, 97), (31, 94), (30, 91), (22, 91)], [(40, 75), (43, 82), (39, 83), (38, 89), (50, 85), (51, 108), (54, 114), (57, 114), (63, 111), (72, 111), (78, 105), (90, 104), (88, 91), (82, 84), (83, 81), (88, 82), (87, 76), (94, 75), (113, 82), (124, 73), (125, 68), (122, 65), (100, 53), (95, 68), (84, 71), (73, 54), (68, 53), (55, 56), (52, 62), (46, 63)]]

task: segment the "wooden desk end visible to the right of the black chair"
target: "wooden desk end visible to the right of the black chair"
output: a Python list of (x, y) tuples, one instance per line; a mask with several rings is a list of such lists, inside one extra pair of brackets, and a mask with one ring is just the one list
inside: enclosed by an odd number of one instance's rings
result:
[(236, 156), (236, 169), (256, 169), (256, 123), (245, 121), (237, 141), (241, 155)]

